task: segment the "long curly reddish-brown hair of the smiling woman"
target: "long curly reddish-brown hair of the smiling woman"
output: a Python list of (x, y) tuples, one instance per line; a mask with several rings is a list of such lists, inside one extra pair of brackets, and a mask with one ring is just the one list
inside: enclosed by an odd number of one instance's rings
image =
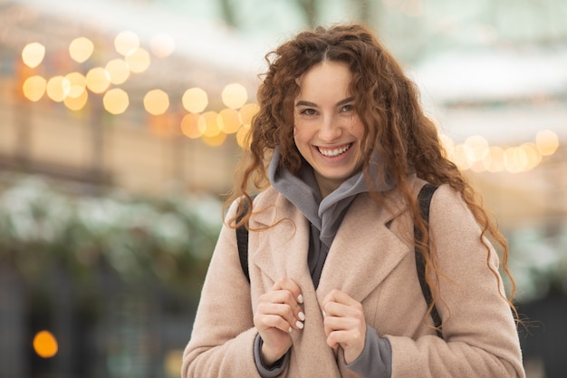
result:
[[(292, 40), (280, 45), (265, 55), (268, 70), (257, 92), (260, 110), (255, 115), (248, 135), (249, 150), (241, 160), (235, 175), (235, 187), (227, 199), (244, 198), (252, 203), (250, 194), (269, 185), (267, 165), (274, 148), (279, 147), (280, 168), (297, 173), (303, 158), (293, 141), (293, 102), (299, 94), (297, 79), (314, 65), (323, 61), (347, 63), (351, 69), (350, 91), (355, 97), (355, 106), (364, 124), (361, 150), (365, 156), (362, 171), (370, 185), (370, 156), (374, 151), (380, 155), (380, 171), (387, 172), (403, 194), (416, 227), (421, 230), (423, 243), (418, 249), (426, 261), (428, 272), (437, 271), (435, 261), (425, 247), (428, 244), (428, 225), (419, 215), (418, 201), (406, 180), (408, 173), (416, 172), (418, 178), (436, 185), (448, 184), (456, 189), (482, 228), (481, 241), (486, 248), (486, 265), (489, 264), (490, 246), (485, 237), (499, 246), (501, 265), (511, 283), (511, 294), (506, 298), (512, 303), (515, 284), (508, 267), (508, 247), (505, 237), (499, 232), (491, 217), (483, 208), (476, 191), (467, 183), (456, 165), (447, 159), (433, 121), (425, 115), (419, 102), (416, 85), (404, 74), (397, 60), (378, 41), (370, 29), (359, 24), (317, 27), (313, 31), (297, 34)], [(384, 194), (370, 190), (374, 200), (383, 204)], [(241, 207), (233, 227), (247, 225), (252, 211)], [(239, 220), (237, 220), (239, 219)], [(492, 268), (491, 268), (492, 269)], [(498, 274), (493, 270), (497, 285)], [(428, 282), (435, 300), (438, 298), (436, 282)], [(430, 306), (429, 312), (433, 305)]]

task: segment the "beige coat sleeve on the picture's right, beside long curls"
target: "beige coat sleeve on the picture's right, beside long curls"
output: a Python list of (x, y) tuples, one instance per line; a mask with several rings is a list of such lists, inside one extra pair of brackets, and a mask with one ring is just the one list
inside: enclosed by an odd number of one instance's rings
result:
[(524, 377), (514, 316), (505, 300), (498, 256), (480, 241), (466, 203), (447, 185), (430, 208), (443, 338), (391, 336), (392, 375), (399, 377)]

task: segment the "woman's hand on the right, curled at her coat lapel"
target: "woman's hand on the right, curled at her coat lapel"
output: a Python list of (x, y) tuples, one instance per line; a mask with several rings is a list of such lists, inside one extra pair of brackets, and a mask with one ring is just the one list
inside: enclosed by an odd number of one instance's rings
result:
[(340, 290), (332, 290), (322, 302), (327, 344), (341, 345), (346, 363), (356, 360), (366, 341), (366, 320), (362, 305)]

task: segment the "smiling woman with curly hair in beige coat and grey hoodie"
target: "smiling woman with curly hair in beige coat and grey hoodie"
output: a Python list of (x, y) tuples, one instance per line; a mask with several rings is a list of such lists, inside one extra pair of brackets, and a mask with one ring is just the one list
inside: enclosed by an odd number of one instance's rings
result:
[[(298, 34), (266, 60), (183, 377), (524, 377), (488, 241), (505, 263), (505, 239), (399, 63), (354, 24)], [(429, 222), (417, 200), (427, 181), (438, 186)]]

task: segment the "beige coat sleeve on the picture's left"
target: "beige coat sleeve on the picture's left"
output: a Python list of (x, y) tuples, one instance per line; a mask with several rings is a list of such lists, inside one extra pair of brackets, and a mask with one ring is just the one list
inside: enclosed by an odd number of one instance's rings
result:
[[(235, 214), (235, 208), (235, 204), (229, 208), (226, 219)], [(224, 225), (183, 354), (181, 376), (260, 377), (254, 361), (256, 334), (250, 286), (238, 259), (235, 229)]]

